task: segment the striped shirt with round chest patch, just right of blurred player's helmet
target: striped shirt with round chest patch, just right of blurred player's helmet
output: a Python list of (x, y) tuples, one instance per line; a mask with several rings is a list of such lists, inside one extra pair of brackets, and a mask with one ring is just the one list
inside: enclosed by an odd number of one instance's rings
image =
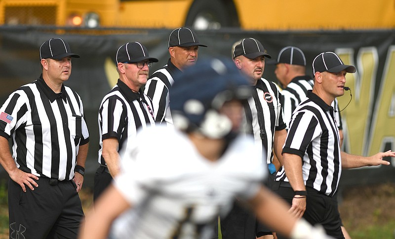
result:
[(285, 129), (281, 94), (276, 84), (264, 78), (258, 80), (248, 106), (244, 107), (247, 128), (252, 129), (255, 142), (262, 145), (266, 163), (273, 161), (273, 140), (275, 131)]

